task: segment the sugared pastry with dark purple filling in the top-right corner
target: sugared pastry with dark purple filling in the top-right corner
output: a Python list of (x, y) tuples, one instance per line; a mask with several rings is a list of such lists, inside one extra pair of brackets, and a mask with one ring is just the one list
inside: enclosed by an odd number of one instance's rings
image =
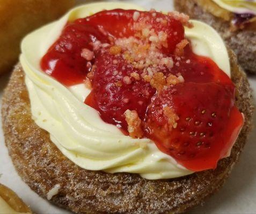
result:
[(175, 9), (214, 27), (235, 51), (239, 64), (256, 73), (256, 2), (175, 0)]

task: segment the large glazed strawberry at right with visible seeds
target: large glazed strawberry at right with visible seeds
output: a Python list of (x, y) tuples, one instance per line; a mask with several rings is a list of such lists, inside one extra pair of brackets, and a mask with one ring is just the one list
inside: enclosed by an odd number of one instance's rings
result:
[[(187, 169), (214, 169), (231, 150), (243, 125), (234, 97), (233, 85), (188, 82), (169, 87), (149, 106), (148, 136)], [(166, 107), (171, 115), (165, 114)]]

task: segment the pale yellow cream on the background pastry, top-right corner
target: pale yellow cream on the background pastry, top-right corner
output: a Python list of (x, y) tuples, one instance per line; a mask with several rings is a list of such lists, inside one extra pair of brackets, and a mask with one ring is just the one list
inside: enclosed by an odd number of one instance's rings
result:
[(256, 14), (255, 0), (212, 0), (225, 10), (233, 13)]

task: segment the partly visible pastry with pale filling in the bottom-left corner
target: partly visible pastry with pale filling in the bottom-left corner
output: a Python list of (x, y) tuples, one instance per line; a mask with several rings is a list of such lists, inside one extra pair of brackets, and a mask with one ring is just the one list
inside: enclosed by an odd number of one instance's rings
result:
[(11, 189), (0, 184), (0, 213), (32, 213), (31, 209)]

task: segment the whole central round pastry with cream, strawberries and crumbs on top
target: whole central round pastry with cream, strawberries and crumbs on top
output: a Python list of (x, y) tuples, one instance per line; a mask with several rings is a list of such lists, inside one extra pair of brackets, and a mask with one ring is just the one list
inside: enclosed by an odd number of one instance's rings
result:
[(183, 212), (222, 186), (250, 131), (246, 75), (216, 31), (142, 11), (84, 5), (21, 44), (6, 146), (21, 178), (71, 211)]

